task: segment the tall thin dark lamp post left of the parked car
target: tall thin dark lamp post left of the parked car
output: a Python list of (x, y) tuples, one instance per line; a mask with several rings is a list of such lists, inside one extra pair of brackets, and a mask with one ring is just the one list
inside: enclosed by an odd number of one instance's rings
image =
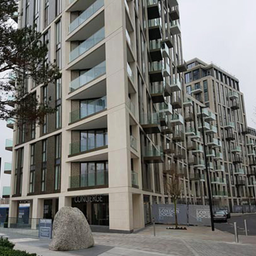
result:
[(204, 144), (204, 162), (205, 162), (205, 172), (207, 176), (207, 187), (208, 187), (208, 197), (209, 197), (209, 207), (210, 207), (210, 222), (212, 224), (212, 231), (214, 231), (213, 209), (212, 209), (212, 189), (210, 187), (210, 175), (208, 170), (208, 159), (207, 159), (207, 151), (206, 151), (206, 144), (205, 144), (203, 108), (205, 107), (200, 106), (202, 135), (203, 135), (203, 144)]

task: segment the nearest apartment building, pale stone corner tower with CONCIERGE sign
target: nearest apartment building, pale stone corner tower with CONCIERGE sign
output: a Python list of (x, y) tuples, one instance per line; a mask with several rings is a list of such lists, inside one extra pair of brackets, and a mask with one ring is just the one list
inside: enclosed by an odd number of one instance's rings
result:
[(186, 202), (178, 1), (23, 0), (19, 14), (19, 27), (42, 32), (61, 79), (27, 83), (57, 111), (42, 126), (13, 126), (11, 220), (26, 201), (33, 219), (69, 206), (90, 225), (143, 228), (152, 203), (171, 201), (163, 162), (179, 170)]

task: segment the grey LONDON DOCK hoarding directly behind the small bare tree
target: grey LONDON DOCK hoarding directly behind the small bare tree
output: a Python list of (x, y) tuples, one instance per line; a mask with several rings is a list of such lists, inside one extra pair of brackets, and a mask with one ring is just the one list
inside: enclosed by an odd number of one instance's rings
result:
[[(178, 224), (187, 225), (187, 205), (178, 204), (176, 212)], [(175, 208), (173, 204), (153, 204), (152, 215), (156, 223), (175, 223)]]

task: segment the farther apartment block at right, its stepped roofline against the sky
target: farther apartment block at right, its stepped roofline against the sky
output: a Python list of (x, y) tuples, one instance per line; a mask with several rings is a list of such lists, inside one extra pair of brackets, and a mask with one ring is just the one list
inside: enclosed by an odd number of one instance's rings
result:
[[(193, 104), (203, 105), (214, 204), (230, 209), (255, 205), (255, 130), (247, 127), (238, 79), (217, 65), (193, 59), (185, 72), (185, 90)], [(187, 125), (195, 128), (194, 123)]]

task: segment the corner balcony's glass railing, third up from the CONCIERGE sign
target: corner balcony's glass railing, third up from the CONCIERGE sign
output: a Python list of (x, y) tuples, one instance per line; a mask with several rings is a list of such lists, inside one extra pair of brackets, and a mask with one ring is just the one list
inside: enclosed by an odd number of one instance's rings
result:
[(72, 111), (69, 115), (69, 122), (73, 123), (79, 121), (82, 118), (88, 117), (89, 115), (96, 114), (107, 108), (106, 96), (88, 102), (88, 105), (80, 109)]

